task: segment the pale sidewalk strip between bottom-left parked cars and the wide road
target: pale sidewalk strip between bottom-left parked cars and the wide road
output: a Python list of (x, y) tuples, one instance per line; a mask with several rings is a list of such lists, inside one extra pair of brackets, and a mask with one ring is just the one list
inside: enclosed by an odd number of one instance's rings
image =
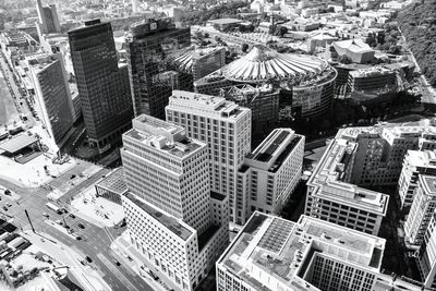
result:
[(81, 257), (73, 248), (64, 245), (46, 233), (37, 234), (27, 230), (21, 234), (39, 247), (44, 253), (47, 253), (51, 257), (56, 257), (59, 262), (69, 266), (71, 272), (80, 281), (84, 290), (112, 290), (96, 270), (92, 269), (89, 266), (83, 266), (80, 263), (84, 257)]

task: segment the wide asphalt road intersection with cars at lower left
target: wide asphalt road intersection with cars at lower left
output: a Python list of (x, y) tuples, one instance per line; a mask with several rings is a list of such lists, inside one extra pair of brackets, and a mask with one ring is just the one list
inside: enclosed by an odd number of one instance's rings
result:
[[(70, 197), (78, 194), (81, 190), (94, 184), (98, 179), (101, 178), (101, 174), (105, 174), (109, 170), (107, 169), (102, 169), (97, 173), (90, 175), (81, 184), (70, 190), (65, 194), (66, 197), (62, 197), (62, 201), (66, 202)], [(59, 178), (53, 180), (51, 183), (59, 185), (59, 183), (61, 183), (61, 180), (65, 180), (66, 182), (66, 180), (70, 179), (71, 174), (76, 172), (77, 169), (72, 169), (65, 174), (60, 175)], [(9, 187), (10, 190), (16, 192), (22, 196), (19, 201), (14, 202), (9, 196), (0, 194), (0, 213), (9, 218), (13, 217), (12, 223), (14, 223), (16, 227), (22, 229), (31, 229), (29, 222), (24, 213), (24, 209), (26, 209), (31, 217), (32, 223), (37, 232), (41, 234), (50, 234), (65, 245), (70, 245), (78, 253), (82, 253), (83, 258), (84, 256), (89, 256), (93, 259), (92, 265), (97, 268), (98, 272), (112, 288), (112, 290), (153, 290), (152, 287), (149, 287), (140, 276), (133, 274), (131, 269), (128, 269), (126, 266), (116, 266), (114, 264), (116, 256), (110, 248), (110, 243), (113, 238), (117, 238), (124, 229), (101, 229), (81, 218), (71, 218), (68, 215), (56, 214), (46, 206), (46, 203), (48, 202), (46, 195), (50, 192), (49, 186), (38, 189), (20, 187), (12, 184), (11, 182), (1, 179), (0, 184)], [(50, 183), (48, 184), (50, 185)], [(9, 207), (7, 211), (4, 211), (1, 207), (7, 205), (7, 203), (12, 204), (12, 206)], [(82, 240), (77, 241), (66, 233), (63, 233), (55, 227), (50, 226), (49, 223), (45, 222), (46, 218), (43, 216), (43, 213), (48, 213), (52, 221), (64, 219), (66, 225), (70, 226), (74, 230), (74, 232), (82, 238)], [(62, 217), (64, 218), (62, 219)], [(78, 223), (84, 225), (85, 229), (78, 228)]]

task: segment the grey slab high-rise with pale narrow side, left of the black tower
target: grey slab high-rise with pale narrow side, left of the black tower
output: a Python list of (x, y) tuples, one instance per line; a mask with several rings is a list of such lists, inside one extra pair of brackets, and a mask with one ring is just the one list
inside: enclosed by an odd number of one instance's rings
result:
[(35, 86), (35, 108), (45, 129), (62, 146), (73, 125), (73, 101), (62, 54), (37, 54), (27, 59)]

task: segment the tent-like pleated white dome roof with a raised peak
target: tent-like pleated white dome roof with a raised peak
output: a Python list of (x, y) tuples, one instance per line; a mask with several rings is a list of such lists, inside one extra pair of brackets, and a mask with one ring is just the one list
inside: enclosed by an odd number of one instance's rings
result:
[(221, 69), (222, 75), (234, 82), (287, 82), (300, 84), (302, 81), (317, 78), (329, 64), (316, 57), (294, 53), (279, 53), (262, 45)]

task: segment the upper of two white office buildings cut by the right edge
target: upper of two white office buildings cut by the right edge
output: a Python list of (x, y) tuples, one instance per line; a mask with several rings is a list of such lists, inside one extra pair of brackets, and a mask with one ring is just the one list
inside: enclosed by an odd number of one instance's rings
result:
[(409, 209), (413, 203), (414, 190), (420, 174), (436, 175), (436, 153), (433, 150), (408, 150), (402, 163), (398, 193), (401, 208)]

